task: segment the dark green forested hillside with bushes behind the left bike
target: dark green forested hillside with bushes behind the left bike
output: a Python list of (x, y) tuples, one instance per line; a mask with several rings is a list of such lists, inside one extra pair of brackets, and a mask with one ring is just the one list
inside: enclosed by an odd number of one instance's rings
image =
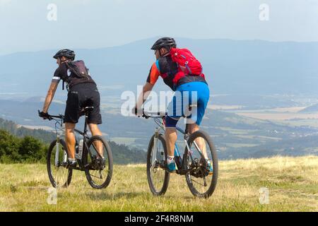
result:
[[(0, 119), (0, 162), (45, 162), (48, 145), (55, 133), (43, 129), (27, 129), (13, 121)], [(110, 142), (115, 164), (146, 162), (146, 153)]]

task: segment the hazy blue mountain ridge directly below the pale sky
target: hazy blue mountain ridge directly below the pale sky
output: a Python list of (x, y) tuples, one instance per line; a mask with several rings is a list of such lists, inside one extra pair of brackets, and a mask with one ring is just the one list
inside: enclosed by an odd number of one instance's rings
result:
[[(154, 41), (151, 38), (117, 47), (75, 50), (78, 59), (86, 61), (98, 85), (121, 84), (124, 85), (119, 89), (122, 92), (146, 82), (155, 61), (150, 50)], [(318, 83), (315, 60), (318, 59), (318, 42), (182, 38), (177, 42), (179, 47), (188, 47), (201, 61), (213, 93), (318, 94), (314, 85)], [(57, 68), (52, 59), (56, 51), (0, 56), (0, 76), (6, 76), (0, 85), (2, 92), (46, 93)], [(158, 82), (158, 87), (165, 89), (162, 81)], [(114, 93), (112, 90), (103, 92)]]

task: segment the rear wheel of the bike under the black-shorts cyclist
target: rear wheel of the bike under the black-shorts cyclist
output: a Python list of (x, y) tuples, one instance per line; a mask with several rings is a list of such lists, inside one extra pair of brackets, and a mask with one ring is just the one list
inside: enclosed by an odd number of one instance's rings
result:
[[(100, 153), (102, 152), (102, 153)], [(102, 157), (104, 159), (102, 160)], [(94, 189), (105, 189), (112, 179), (112, 150), (102, 136), (92, 136), (84, 149), (86, 179)]]

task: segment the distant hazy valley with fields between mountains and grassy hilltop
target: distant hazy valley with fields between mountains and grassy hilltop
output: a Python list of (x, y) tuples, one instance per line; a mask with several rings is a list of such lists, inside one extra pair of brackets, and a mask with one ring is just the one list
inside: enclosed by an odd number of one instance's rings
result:
[[(120, 100), (117, 104), (120, 106)], [(29, 126), (29, 128), (47, 129), (54, 126), (51, 121), (44, 121), (37, 117), (37, 109), (42, 107), (42, 102), (39, 100), (30, 99), (25, 102), (0, 100), (0, 105), (3, 106), (0, 109), (0, 117), (4, 119), (16, 121), (20, 125)], [(156, 126), (153, 120), (123, 117), (116, 105), (110, 107), (103, 102), (102, 106), (103, 124), (100, 125), (100, 128), (105, 137), (116, 143), (146, 150)], [(54, 102), (50, 112), (51, 114), (63, 114), (64, 107), (64, 104)], [(207, 110), (201, 128), (212, 136), (218, 149), (218, 155), (222, 159), (264, 157), (278, 154), (318, 154), (317, 119), (256, 119), (242, 115), (244, 109), (238, 109), (237, 111), (241, 113), (235, 113), (235, 110), (231, 108), (213, 109), (213, 105), (210, 105), (209, 108), (211, 109)], [(275, 113), (271, 109), (263, 109), (263, 111), (271, 112), (272, 115), (278, 114), (278, 116), (282, 114), (280, 111)], [(301, 115), (302, 113), (285, 112), (284, 114)], [(78, 124), (79, 128), (82, 125), (83, 119)], [(182, 136), (179, 138), (181, 139)]]

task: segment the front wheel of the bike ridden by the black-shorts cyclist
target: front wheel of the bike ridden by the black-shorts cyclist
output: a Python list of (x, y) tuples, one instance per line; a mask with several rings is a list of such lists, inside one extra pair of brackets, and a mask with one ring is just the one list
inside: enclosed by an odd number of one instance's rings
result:
[(47, 173), (54, 188), (67, 187), (71, 184), (72, 169), (66, 169), (67, 151), (63, 140), (52, 141), (47, 152)]

